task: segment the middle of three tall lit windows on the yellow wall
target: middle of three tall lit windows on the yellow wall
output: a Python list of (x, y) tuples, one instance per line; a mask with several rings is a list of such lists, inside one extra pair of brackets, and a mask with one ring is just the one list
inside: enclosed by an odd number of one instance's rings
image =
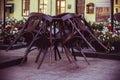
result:
[(48, 3), (48, 0), (39, 0), (38, 12), (47, 14), (47, 3)]

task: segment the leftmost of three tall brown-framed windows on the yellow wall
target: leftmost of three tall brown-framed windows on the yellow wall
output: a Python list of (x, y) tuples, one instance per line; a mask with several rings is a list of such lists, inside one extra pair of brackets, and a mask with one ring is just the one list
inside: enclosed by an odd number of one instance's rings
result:
[(28, 16), (30, 12), (30, 0), (22, 0), (22, 16)]

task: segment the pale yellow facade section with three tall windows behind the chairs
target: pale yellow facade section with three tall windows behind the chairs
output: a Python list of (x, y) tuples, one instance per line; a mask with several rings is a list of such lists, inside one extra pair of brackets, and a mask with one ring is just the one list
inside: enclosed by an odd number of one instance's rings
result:
[(31, 12), (45, 13), (48, 15), (76, 12), (75, 0), (14, 0), (13, 3), (14, 12), (10, 13), (10, 15), (17, 19), (28, 17)]

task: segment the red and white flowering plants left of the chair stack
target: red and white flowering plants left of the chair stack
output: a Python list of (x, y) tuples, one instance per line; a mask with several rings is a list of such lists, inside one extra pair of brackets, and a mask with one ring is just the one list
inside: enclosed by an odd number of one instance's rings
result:
[(10, 44), (18, 34), (19, 30), (22, 28), (25, 19), (17, 20), (15, 18), (6, 18), (6, 26), (0, 24), (0, 42), (1, 44)]

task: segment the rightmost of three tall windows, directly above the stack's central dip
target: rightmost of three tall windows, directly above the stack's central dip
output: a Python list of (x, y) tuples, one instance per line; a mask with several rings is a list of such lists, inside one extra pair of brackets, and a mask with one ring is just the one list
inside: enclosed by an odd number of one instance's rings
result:
[(65, 13), (65, 0), (57, 0), (56, 14)]

